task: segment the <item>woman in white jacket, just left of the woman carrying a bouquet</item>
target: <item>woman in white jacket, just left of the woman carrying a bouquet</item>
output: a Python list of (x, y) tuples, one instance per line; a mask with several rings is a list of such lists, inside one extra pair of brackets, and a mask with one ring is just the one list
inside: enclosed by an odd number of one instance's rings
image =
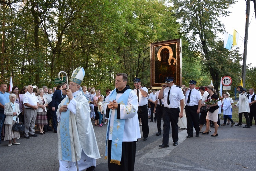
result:
[[(205, 88), (203, 86), (199, 88), (199, 91), (201, 92), (201, 95), (202, 95), (202, 104), (200, 108), (201, 115), (199, 119), (199, 124), (200, 124), (199, 132), (201, 133), (203, 125), (206, 123), (206, 114), (207, 114), (206, 105), (204, 104), (204, 101), (207, 99), (207, 96), (209, 95), (209, 93), (205, 91)], [(208, 130), (208, 131), (211, 132), (211, 130)]]

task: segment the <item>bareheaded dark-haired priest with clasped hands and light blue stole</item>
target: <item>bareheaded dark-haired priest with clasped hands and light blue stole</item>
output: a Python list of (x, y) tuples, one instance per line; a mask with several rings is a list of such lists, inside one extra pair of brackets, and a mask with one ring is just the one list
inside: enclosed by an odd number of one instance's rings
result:
[(126, 86), (127, 81), (127, 74), (116, 74), (115, 89), (103, 102), (105, 117), (109, 118), (105, 159), (111, 171), (134, 170), (136, 141), (141, 138), (138, 97)]

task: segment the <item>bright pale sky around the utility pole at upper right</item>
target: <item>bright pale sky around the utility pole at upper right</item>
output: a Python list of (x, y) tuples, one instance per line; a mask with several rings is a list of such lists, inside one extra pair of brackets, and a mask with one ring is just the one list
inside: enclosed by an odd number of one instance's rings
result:
[[(231, 13), (228, 17), (221, 18), (220, 20), (226, 26), (226, 32), (233, 35), (234, 29), (240, 35), (240, 41), (238, 43), (239, 52), (243, 54), (244, 51), (244, 34), (245, 34), (245, 20), (246, 20), (246, 1), (237, 0), (237, 3), (229, 8)], [(250, 3), (250, 15), (249, 15), (249, 31), (248, 31), (248, 47), (247, 47), (247, 61), (246, 65), (256, 67), (256, 18), (254, 12), (254, 4)], [(222, 35), (222, 38), (224, 36)], [(241, 61), (242, 63), (243, 61)]]

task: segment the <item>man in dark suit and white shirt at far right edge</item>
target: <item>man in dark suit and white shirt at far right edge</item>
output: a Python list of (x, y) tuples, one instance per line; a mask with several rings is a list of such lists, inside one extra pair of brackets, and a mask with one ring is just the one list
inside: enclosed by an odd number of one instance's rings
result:
[(249, 89), (249, 96), (248, 96), (249, 106), (250, 106), (250, 113), (249, 119), (250, 119), (250, 126), (252, 126), (253, 118), (256, 125), (256, 98), (254, 94), (254, 89)]

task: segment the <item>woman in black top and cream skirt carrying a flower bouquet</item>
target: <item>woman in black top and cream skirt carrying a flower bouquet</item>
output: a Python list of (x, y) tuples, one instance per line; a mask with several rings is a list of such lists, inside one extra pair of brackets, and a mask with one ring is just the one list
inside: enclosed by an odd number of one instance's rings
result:
[[(214, 89), (213, 85), (208, 85), (207, 86), (207, 92), (209, 95), (207, 96), (208, 98), (218, 100), (218, 96), (216, 93), (216, 90)], [(218, 113), (219, 113), (219, 106), (218, 103), (212, 104), (212, 105), (207, 105), (207, 108), (209, 109), (206, 115), (206, 130), (204, 132), (201, 132), (202, 134), (209, 134), (210, 130), (210, 120), (214, 124), (214, 133), (211, 135), (211, 137), (217, 137), (218, 136)]]

